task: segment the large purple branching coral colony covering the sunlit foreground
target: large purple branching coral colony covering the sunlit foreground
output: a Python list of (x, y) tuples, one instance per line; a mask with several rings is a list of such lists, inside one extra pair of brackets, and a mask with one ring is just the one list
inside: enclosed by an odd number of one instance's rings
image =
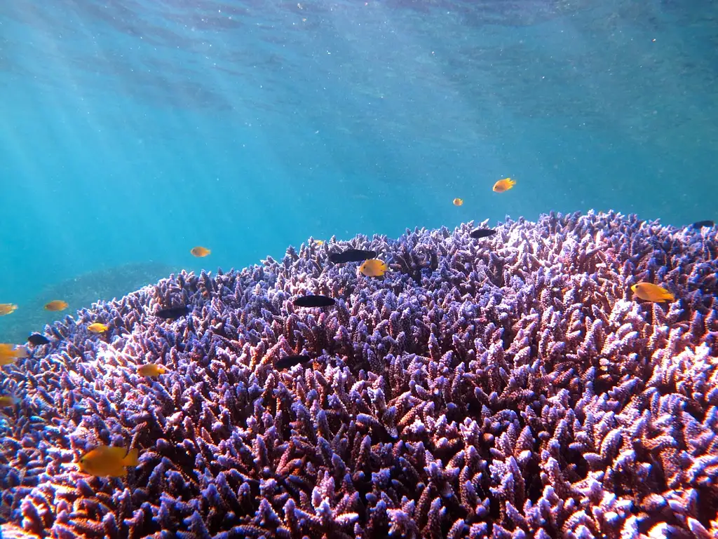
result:
[[(613, 212), (470, 230), (309, 241), (48, 327), (4, 367), (3, 537), (717, 537), (715, 233)], [(327, 262), (347, 246), (393, 271)], [(78, 472), (98, 444), (139, 466)]]

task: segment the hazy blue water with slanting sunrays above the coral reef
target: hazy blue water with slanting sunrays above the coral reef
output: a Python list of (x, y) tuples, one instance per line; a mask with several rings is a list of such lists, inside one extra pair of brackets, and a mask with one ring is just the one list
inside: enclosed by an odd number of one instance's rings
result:
[(710, 0), (3, 1), (0, 337), (126, 263), (549, 210), (712, 219), (717, 51)]

